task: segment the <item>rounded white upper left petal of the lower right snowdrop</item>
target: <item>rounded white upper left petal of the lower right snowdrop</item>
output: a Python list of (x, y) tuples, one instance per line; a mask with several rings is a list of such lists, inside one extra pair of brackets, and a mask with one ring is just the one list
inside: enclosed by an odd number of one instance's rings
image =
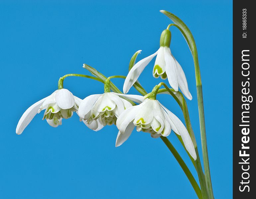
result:
[(117, 118), (117, 128), (121, 133), (125, 133), (128, 124), (134, 120), (135, 114), (140, 110), (139, 106), (131, 106)]

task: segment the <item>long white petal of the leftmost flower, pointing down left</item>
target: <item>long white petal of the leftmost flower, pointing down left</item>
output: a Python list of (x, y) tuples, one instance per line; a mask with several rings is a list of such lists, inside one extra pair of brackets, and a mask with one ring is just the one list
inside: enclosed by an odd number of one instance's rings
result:
[(21, 116), (18, 125), (16, 127), (16, 133), (20, 135), (23, 130), (28, 126), (28, 124), (31, 122), (31, 120), (35, 117), (37, 114), (37, 111), (39, 107), (43, 104), (44, 100), (46, 100), (48, 97), (43, 98), (42, 100), (34, 103), (32, 106), (30, 106)]

